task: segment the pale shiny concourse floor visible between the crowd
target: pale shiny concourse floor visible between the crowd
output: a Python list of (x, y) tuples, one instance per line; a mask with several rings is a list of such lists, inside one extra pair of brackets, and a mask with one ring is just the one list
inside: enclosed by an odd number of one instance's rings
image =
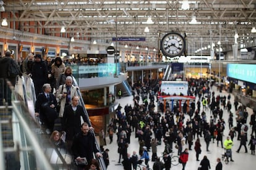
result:
[[(216, 91), (216, 87), (213, 87), (213, 90), (215, 91), (215, 94), (220, 94), (220, 95), (228, 95), (227, 92), (221, 92), (219, 93), (218, 91)], [(130, 97), (123, 97), (122, 99), (117, 99), (117, 102), (121, 103), (121, 105), (124, 108), (124, 105), (126, 105), (127, 103), (130, 103), (133, 105), (133, 101), (132, 101), (132, 96)], [(140, 101), (142, 102), (142, 101)], [(197, 101), (196, 101), (197, 102)], [(231, 95), (231, 103), (234, 103), (234, 97), (233, 95)], [(157, 106), (157, 104), (155, 104)], [(122, 112), (124, 112), (122, 108)], [(201, 107), (202, 108), (202, 107)], [(232, 107), (231, 111), (234, 113), (234, 107)], [(250, 108), (247, 108), (247, 111), (249, 112), (249, 115), (252, 114), (252, 110)], [(206, 111), (207, 112), (207, 119), (210, 119), (210, 112), (209, 110)], [(187, 116), (188, 117), (188, 116)], [(185, 120), (187, 119), (187, 117), (185, 118)], [(226, 121), (226, 129), (224, 131), (224, 137), (223, 140), (226, 139), (226, 136), (228, 136), (229, 133), (229, 128), (228, 128), (228, 113), (227, 110), (224, 110), (223, 113), (223, 118)], [(249, 124), (249, 118), (247, 118), (247, 124)], [(234, 126), (236, 126), (236, 121), (234, 120)], [(249, 132), (248, 132), (248, 139), (250, 139), (250, 128), (249, 128)], [(117, 143), (116, 143), (116, 136), (114, 136), (114, 142), (112, 144), (109, 144), (109, 138), (107, 137), (107, 143), (108, 145), (105, 146), (104, 148), (109, 148), (109, 166), (108, 169), (123, 169), (122, 164), (117, 163), (118, 159), (119, 159), (119, 155), (117, 153)], [(207, 155), (208, 159), (210, 160), (210, 164), (211, 164), (211, 169), (215, 169), (216, 166), (216, 158), (220, 157), (221, 158), (221, 154), (224, 152), (223, 148), (221, 147), (217, 147), (216, 146), (216, 142), (213, 144), (212, 142), (210, 143), (210, 152), (206, 151), (206, 144), (203, 140), (203, 138), (200, 139), (201, 144), (202, 144), (202, 153), (199, 156), (199, 159), (202, 160), (204, 155)], [(223, 141), (224, 142), (224, 141)], [(250, 154), (250, 150), (249, 147), (248, 148), (248, 153), (244, 153), (244, 147), (241, 148), (240, 153), (236, 153), (237, 148), (239, 147), (240, 141), (237, 141), (237, 138), (234, 138), (234, 146), (233, 146), (233, 160), (234, 162), (230, 162), (229, 164), (225, 164), (223, 163), (223, 170), (226, 169), (232, 169), (232, 170), (240, 170), (240, 169), (254, 169), (253, 167), (256, 166), (256, 156), (255, 155), (251, 155)], [(248, 145), (248, 142), (247, 142)], [(188, 147), (188, 146), (187, 146)], [(192, 147), (194, 148), (194, 147)], [(137, 153), (139, 152), (139, 142), (138, 139), (135, 139), (135, 134), (134, 132), (132, 132), (131, 135), (131, 142), (128, 148), (128, 153), (132, 154), (133, 151), (136, 151)], [(158, 146), (158, 156), (161, 155), (161, 153), (164, 150), (164, 146), (163, 146), (163, 142), (162, 145)], [(150, 158), (151, 158), (151, 152), (149, 152), (150, 154)], [(174, 155), (177, 154), (177, 150), (174, 148)], [(153, 166), (153, 162), (149, 162), (150, 164), (150, 168), (152, 168)], [(195, 151), (194, 150), (190, 150), (189, 151), (189, 161), (187, 162), (186, 165), (186, 169), (192, 169), (192, 170), (197, 170), (198, 166), (200, 164), (200, 161), (196, 161), (195, 158)], [(179, 164), (177, 166), (172, 166), (171, 169), (175, 170), (175, 169), (182, 169), (182, 165)]]

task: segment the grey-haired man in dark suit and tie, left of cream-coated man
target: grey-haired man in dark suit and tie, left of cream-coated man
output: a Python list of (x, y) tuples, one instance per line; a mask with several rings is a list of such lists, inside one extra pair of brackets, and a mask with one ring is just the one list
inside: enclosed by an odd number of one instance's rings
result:
[(51, 85), (43, 84), (43, 92), (38, 94), (36, 99), (35, 116), (39, 116), (41, 123), (46, 128), (46, 133), (53, 131), (54, 120), (58, 117), (57, 105), (56, 97), (51, 94)]

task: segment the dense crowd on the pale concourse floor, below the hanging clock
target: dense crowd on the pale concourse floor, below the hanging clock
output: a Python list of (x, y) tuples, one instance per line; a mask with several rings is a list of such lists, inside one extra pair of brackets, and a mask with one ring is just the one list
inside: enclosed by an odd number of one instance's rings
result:
[[(232, 157), (234, 136), (237, 136), (241, 146), (244, 145), (245, 152), (247, 152), (246, 144), (249, 126), (246, 123), (249, 115), (245, 107), (238, 105), (237, 101), (234, 104), (231, 103), (230, 94), (228, 96), (215, 95), (207, 80), (189, 79), (188, 81), (188, 94), (194, 95), (196, 100), (190, 102), (190, 105), (186, 105), (186, 107), (184, 105), (187, 101), (182, 104), (183, 107), (181, 108), (179, 108), (179, 103), (177, 102), (173, 108), (166, 104), (165, 109), (161, 110), (161, 107), (159, 107), (160, 109), (155, 111), (154, 103), (157, 97), (151, 96), (157, 95), (156, 92), (160, 87), (158, 81), (151, 81), (143, 86), (135, 86), (134, 105), (127, 104), (117, 107), (116, 117), (111, 119), (108, 132), (117, 132), (117, 152), (119, 153), (119, 162), (122, 162), (124, 169), (135, 169), (137, 163), (140, 163), (142, 159), (145, 160), (147, 166), (148, 161), (155, 161), (158, 164), (158, 161), (156, 161), (158, 156), (166, 155), (167, 160), (169, 153), (175, 152), (174, 146), (177, 148), (177, 155), (182, 158), (184, 156), (182, 153), (189, 153), (193, 149), (192, 145), (194, 145), (195, 158), (200, 161), (202, 149), (204, 150), (205, 148), (207, 152), (210, 152), (210, 143), (216, 143), (217, 147), (225, 148), (225, 152), (229, 155), (228, 160), (234, 161)], [(205, 100), (207, 102), (204, 102)], [(142, 101), (141, 104), (139, 104), (139, 101)], [(158, 100), (158, 105), (161, 105), (161, 102), (163, 101)], [(201, 108), (201, 105), (203, 105), (203, 108)], [(121, 111), (122, 107), (124, 107), (123, 113)], [(231, 112), (232, 107), (235, 107), (236, 113)], [(223, 112), (229, 114), (229, 119), (223, 118)], [(188, 115), (190, 119), (185, 119), (185, 115)], [(234, 121), (236, 121), (236, 126), (234, 126)], [(252, 154), (254, 154), (256, 141), (254, 138), (255, 125), (255, 113), (253, 113), (250, 116), (249, 127), (252, 130), (249, 142)], [(229, 135), (226, 139), (223, 139), (223, 132), (226, 128), (229, 128)], [(131, 155), (127, 153), (127, 148), (132, 134), (138, 138), (139, 150), (134, 151)], [(113, 135), (111, 136), (112, 138)], [(200, 140), (202, 138), (204, 139), (203, 141)], [(156, 155), (157, 146), (161, 144), (164, 144), (163, 155)], [(238, 153), (241, 146), (237, 148)], [(152, 152), (151, 158), (148, 152)], [(220, 158), (216, 160), (218, 163), (216, 169), (222, 169)], [(163, 167), (166, 169), (171, 168), (168, 163), (169, 161), (166, 161)], [(181, 163), (183, 169), (185, 169), (186, 159)], [(200, 166), (201, 169), (211, 168), (207, 155), (203, 156)]]

